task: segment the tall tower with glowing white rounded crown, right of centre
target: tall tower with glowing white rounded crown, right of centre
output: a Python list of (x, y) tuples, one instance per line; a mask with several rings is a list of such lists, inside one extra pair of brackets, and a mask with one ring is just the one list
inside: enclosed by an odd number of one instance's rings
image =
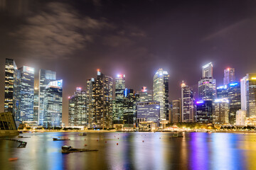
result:
[(160, 102), (160, 120), (169, 120), (169, 74), (163, 69), (154, 75), (153, 100)]

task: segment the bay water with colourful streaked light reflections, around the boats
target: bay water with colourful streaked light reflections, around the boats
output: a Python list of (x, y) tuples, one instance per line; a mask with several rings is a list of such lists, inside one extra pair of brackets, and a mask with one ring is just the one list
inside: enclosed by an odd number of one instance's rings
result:
[[(24, 149), (16, 148), (16, 142), (0, 140), (1, 169), (256, 169), (255, 134), (191, 132), (185, 137), (171, 137), (171, 132), (88, 132), (82, 137), (78, 134), (23, 134), (31, 136), (18, 139), (28, 142)], [(70, 140), (53, 141), (53, 137)], [(99, 151), (62, 154), (63, 145)], [(12, 157), (18, 160), (9, 162)]]

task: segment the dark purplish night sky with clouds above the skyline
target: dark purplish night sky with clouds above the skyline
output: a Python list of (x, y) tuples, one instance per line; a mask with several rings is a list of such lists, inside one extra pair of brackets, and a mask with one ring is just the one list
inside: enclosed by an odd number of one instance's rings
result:
[(97, 69), (125, 74), (127, 88), (138, 91), (152, 89), (161, 67), (171, 100), (180, 98), (182, 80), (197, 89), (208, 62), (218, 86), (227, 67), (238, 80), (256, 72), (255, 32), (256, 1), (0, 0), (1, 111), (6, 57), (36, 74), (57, 72), (68, 123), (68, 96)]

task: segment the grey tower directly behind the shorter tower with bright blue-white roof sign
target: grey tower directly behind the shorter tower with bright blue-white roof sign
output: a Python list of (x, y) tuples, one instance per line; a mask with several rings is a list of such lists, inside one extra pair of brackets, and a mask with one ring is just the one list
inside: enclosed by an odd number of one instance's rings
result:
[(46, 94), (46, 86), (50, 81), (56, 80), (56, 72), (52, 72), (47, 69), (39, 70), (39, 114), (38, 114), (38, 125), (43, 125), (43, 98)]

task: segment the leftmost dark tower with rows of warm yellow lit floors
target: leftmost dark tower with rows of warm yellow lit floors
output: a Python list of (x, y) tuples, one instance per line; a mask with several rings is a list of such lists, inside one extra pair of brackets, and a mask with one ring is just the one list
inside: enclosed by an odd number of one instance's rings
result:
[(15, 74), (16, 74), (17, 66), (14, 62), (14, 60), (7, 59), (6, 58), (6, 63), (5, 63), (5, 89), (4, 89), (4, 112), (11, 112), (13, 115), (15, 115), (14, 111), (14, 104), (15, 104), (15, 99), (14, 99), (14, 81), (16, 79)]

